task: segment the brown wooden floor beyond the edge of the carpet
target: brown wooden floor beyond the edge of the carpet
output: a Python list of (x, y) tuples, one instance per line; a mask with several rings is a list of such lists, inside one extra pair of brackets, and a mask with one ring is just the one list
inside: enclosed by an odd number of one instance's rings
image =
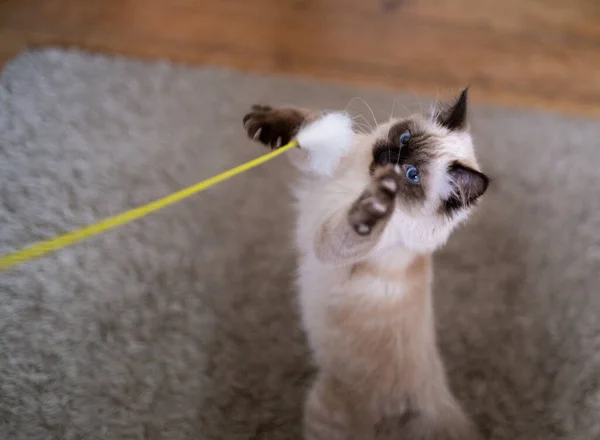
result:
[(0, 63), (60, 45), (600, 116), (600, 0), (0, 0)]

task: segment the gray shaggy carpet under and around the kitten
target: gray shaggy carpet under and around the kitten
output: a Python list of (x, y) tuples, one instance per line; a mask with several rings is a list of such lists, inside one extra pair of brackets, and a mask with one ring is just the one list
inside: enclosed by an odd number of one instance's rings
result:
[[(25, 53), (0, 80), (0, 252), (263, 153), (256, 102), (377, 117), (413, 94)], [(423, 104), (425, 101), (423, 101)], [(359, 101), (353, 113), (370, 113)], [(495, 179), (437, 256), (442, 351), (490, 439), (600, 438), (600, 124), (477, 107)], [(297, 439), (312, 371), (285, 158), (0, 273), (1, 439)]]

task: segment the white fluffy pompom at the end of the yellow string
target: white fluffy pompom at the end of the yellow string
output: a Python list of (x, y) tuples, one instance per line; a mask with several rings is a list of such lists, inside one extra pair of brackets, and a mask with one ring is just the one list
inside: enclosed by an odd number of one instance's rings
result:
[(308, 166), (316, 174), (330, 176), (352, 146), (352, 119), (345, 113), (328, 113), (301, 128), (300, 148), (309, 152)]

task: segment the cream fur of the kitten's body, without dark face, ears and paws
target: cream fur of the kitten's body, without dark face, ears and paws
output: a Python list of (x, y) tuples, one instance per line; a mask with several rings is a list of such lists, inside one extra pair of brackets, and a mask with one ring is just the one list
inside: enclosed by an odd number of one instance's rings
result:
[[(437, 143), (431, 181), (438, 196), (447, 196), (448, 164), (477, 166), (471, 137), (417, 120)], [(386, 429), (403, 432), (406, 437), (396, 437), (402, 439), (477, 438), (439, 359), (429, 257), (468, 212), (438, 215), (439, 197), (417, 210), (396, 203), (389, 222), (368, 236), (358, 235), (347, 219), (372, 181), (372, 146), (395, 122), (356, 134), (331, 177), (305, 175), (295, 185), (299, 302), (320, 370), (305, 410), (310, 440), (384, 437)], [(418, 415), (407, 422), (410, 411)]]

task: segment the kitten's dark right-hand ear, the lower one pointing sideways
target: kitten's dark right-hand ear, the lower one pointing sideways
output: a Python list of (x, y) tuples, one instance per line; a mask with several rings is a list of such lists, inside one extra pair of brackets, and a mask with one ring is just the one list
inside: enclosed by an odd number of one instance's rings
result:
[(448, 169), (452, 194), (446, 200), (448, 211), (466, 208), (479, 199), (488, 188), (490, 179), (483, 173), (460, 163)]

